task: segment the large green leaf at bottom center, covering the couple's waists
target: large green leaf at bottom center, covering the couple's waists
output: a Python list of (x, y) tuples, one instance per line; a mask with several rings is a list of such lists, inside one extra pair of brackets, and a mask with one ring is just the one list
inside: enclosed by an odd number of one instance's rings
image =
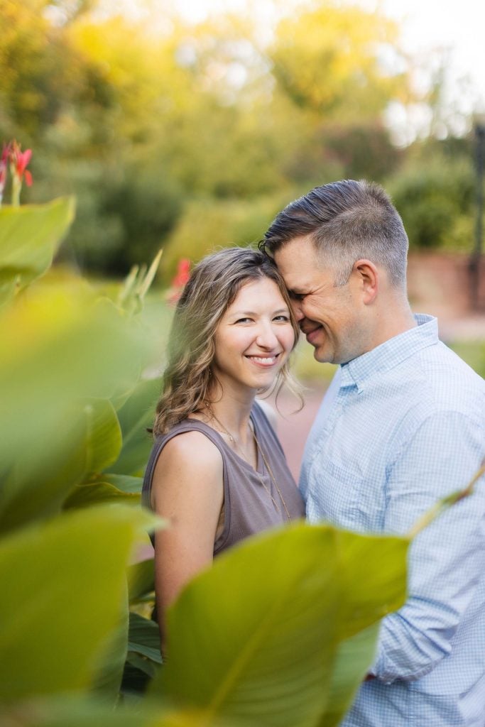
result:
[[(169, 658), (151, 694), (205, 710), (208, 726), (332, 724), (331, 695), (346, 702), (374, 654), (375, 631), (350, 637), (404, 602), (407, 547), (305, 524), (234, 547), (169, 609)], [(334, 682), (357, 653), (348, 683)]]

